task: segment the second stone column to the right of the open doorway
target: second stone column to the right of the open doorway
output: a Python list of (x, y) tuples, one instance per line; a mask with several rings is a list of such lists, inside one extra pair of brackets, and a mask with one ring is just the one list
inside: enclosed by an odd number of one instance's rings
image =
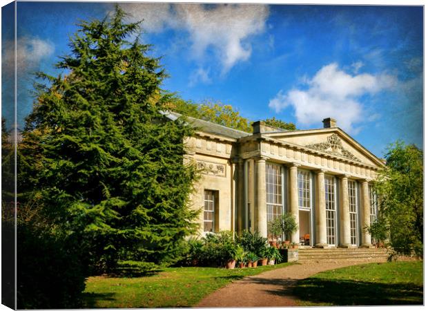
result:
[(340, 247), (351, 246), (351, 218), (347, 175), (340, 177)]

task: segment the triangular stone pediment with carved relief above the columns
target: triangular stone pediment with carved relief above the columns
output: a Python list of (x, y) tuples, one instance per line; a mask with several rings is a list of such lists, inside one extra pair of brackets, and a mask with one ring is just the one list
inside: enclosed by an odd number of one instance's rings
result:
[(376, 167), (383, 165), (379, 158), (339, 128), (263, 133), (263, 135), (363, 164), (370, 164)]

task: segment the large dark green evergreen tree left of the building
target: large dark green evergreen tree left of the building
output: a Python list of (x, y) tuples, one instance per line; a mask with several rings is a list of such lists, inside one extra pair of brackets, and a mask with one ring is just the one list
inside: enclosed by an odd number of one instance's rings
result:
[(139, 23), (83, 21), (71, 54), (40, 73), (21, 151), (23, 201), (37, 198), (57, 229), (75, 236), (101, 270), (121, 261), (171, 261), (191, 234), (195, 169), (184, 160), (183, 120), (166, 122), (159, 98), (166, 76)]

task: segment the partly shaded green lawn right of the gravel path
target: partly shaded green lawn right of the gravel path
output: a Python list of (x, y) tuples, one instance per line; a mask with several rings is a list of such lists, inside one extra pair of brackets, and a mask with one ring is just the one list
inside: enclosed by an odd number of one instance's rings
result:
[(321, 272), (298, 282), (300, 305), (421, 305), (423, 262), (369, 263)]

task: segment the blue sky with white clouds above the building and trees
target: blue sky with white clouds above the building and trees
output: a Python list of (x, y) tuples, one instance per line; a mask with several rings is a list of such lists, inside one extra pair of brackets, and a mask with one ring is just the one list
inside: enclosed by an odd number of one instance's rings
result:
[[(121, 3), (185, 100), (232, 104), (244, 117), (298, 129), (338, 126), (376, 156), (401, 139), (422, 147), (422, 7)], [(32, 107), (31, 73), (59, 73), (79, 19), (113, 3), (17, 4), (19, 127)], [(3, 86), (13, 67), (12, 11), (3, 8)], [(9, 18), (8, 18), (9, 17)], [(9, 43), (9, 44), (8, 44)], [(11, 100), (2, 94), (3, 103)], [(6, 107), (6, 108), (5, 108)], [(10, 117), (7, 105), (2, 114)]]

